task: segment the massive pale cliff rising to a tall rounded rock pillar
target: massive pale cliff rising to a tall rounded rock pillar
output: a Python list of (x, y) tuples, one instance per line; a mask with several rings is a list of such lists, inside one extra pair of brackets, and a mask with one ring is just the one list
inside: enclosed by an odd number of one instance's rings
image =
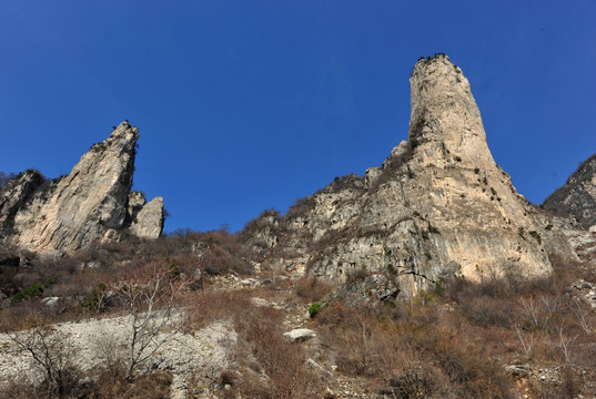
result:
[(270, 259), (281, 256), (285, 267), (336, 283), (360, 269), (392, 275), (405, 295), (446, 275), (545, 275), (548, 253), (573, 257), (495, 163), (462, 70), (437, 54), (421, 59), (410, 82), (408, 141), (381, 167), (337, 178), (241, 237), (270, 243)]

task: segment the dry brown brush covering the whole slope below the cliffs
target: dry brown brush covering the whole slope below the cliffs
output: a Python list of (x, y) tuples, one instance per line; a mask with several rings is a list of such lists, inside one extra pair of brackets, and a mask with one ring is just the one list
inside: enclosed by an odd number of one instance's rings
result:
[[(9, 249), (0, 254), (0, 289), (6, 296), (0, 327), (34, 331), (34, 325), (43, 334), (21, 342), (21, 349), (31, 352), (28, 347), (39, 345), (38, 338), (46, 339), (55, 344), (50, 360), (61, 359), (54, 355), (64, 348), (64, 339), (52, 335), (50, 323), (125, 311), (130, 301), (113, 294), (119, 289), (125, 294), (122, 287), (132, 286), (122, 283), (124, 277), (145, 287), (141, 280), (160, 275), (154, 273), (158, 265), (164, 272), (162, 282), (183, 280), (175, 300), (189, 313), (185, 331), (221, 320), (238, 332), (231, 366), (221, 374), (201, 371), (194, 385), (189, 382), (191, 397), (199, 395), (205, 380), (226, 398), (332, 396), (325, 393), (326, 387), (345, 380), (361, 392), (386, 398), (596, 395), (596, 315), (573, 288), (579, 279), (596, 282), (594, 270), (585, 265), (553, 259), (554, 274), (533, 280), (516, 270), (504, 278), (485, 276), (479, 284), (443, 280), (432, 291), (395, 303), (353, 293), (330, 295), (332, 287), (314, 277), (277, 278), (266, 270), (256, 276), (267, 283), (259, 288), (221, 289), (215, 284), (220, 276), (252, 272), (251, 254), (224, 231), (179, 232), (151, 243), (94, 246), (60, 259), (23, 254), (17, 262), (11, 260), (12, 254)], [(46, 306), (42, 299), (52, 296), (59, 297), (57, 305)], [(251, 304), (253, 297), (282, 305), (257, 307)], [(304, 317), (314, 301), (322, 308), (304, 327), (316, 330), (317, 338), (290, 342), (283, 337), (289, 328), (285, 323), (290, 316)], [(105, 368), (81, 383), (84, 374), (63, 359), (63, 377), (54, 377), (52, 364), (39, 386), (14, 382), (2, 393), (160, 398), (172, 382), (165, 371), (133, 375), (130, 361), (108, 354)], [(321, 368), (313, 367), (312, 359)]]

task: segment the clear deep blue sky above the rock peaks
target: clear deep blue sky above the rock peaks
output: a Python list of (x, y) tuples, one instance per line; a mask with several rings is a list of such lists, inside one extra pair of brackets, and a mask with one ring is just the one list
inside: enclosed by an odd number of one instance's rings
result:
[(0, 2), (0, 171), (70, 172), (124, 119), (165, 229), (241, 228), (407, 136), (444, 52), (488, 145), (541, 203), (596, 152), (596, 1)]

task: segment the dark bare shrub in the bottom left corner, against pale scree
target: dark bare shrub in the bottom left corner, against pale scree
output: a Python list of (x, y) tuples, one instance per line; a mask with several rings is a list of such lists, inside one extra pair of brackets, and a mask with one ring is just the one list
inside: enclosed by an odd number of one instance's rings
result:
[(69, 335), (39, 317), (28, 319), (22, 327), (27, 329), (9, 334), (17, 352), (33, 359), (46, 377), (50, 397), (65, 397), (75, 370), (75, 351)]

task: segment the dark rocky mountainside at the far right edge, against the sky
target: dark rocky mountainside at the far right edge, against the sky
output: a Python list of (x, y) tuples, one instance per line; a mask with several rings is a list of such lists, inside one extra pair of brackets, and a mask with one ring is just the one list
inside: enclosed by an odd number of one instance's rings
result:
[(565, 185), (543, 203), (559, 216), (573, 217), (585, 229), (596, 225), (596, 154), (584, 161)]

